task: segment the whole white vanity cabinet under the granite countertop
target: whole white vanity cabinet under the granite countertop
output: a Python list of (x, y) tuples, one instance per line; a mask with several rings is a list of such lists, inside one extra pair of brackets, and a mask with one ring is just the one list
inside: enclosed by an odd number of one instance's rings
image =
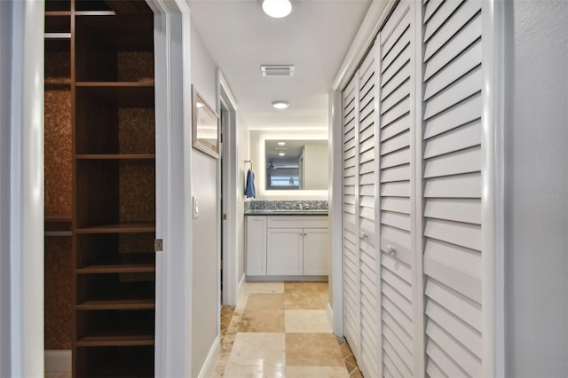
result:
[(329, 272), (327, 217), (247, 217), (247, 277), (301, 280)]

